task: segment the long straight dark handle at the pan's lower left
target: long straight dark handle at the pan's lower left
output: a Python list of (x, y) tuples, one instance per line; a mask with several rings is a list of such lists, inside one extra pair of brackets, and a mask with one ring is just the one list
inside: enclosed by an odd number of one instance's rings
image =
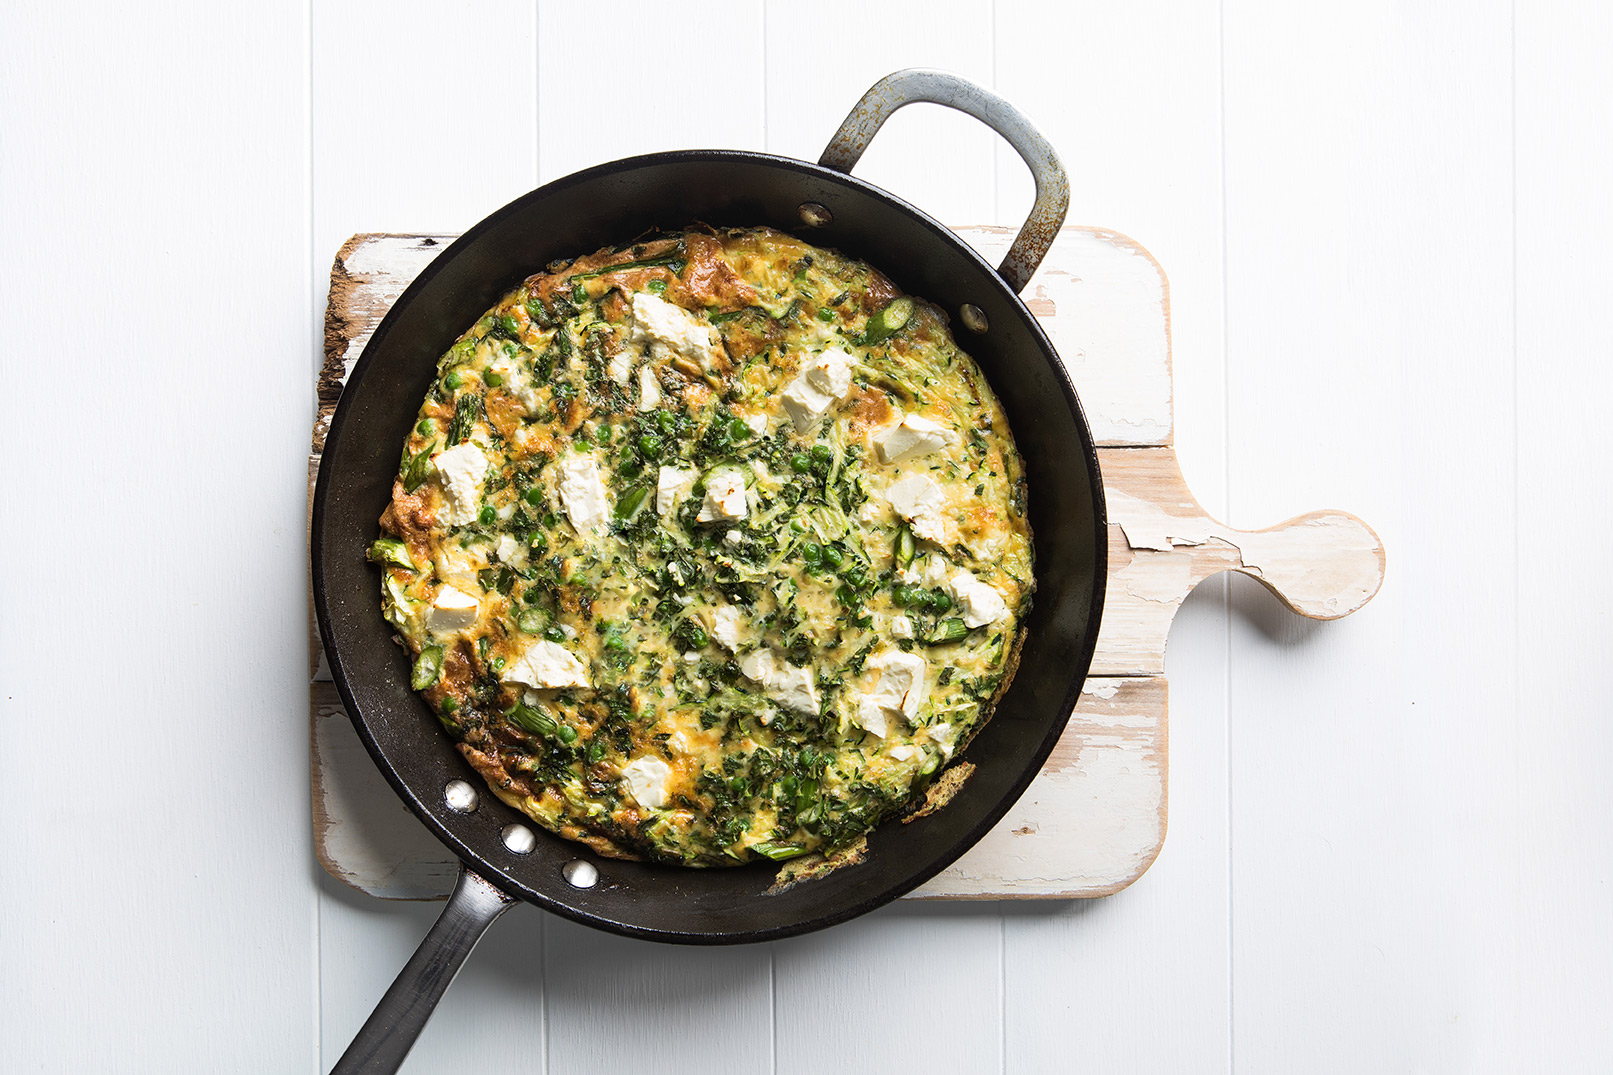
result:
[(331, 1075), (395, 1072), (482, 933), (515, 902), (466, 867), (431, 933), (392, 981)]

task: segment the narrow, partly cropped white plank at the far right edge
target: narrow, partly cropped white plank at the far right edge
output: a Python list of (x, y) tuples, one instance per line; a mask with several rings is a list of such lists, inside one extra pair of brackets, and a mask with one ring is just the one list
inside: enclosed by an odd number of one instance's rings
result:
[[(1613, 1004), (1613, 583), (1586, 539), (1613, 533), (1613, 8), (1516, 5), (1518, 1054), (1607, 1070)], [(1553, 670), (1540, 675), (1540, 670)], [(1586, 675), (1589, 671), (1589, 675)]]

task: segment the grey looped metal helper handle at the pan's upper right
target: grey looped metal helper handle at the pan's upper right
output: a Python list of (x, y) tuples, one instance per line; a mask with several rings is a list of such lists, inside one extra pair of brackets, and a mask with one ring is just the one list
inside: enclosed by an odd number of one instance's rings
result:
[(1031, 207), (1031, 215), (1008, 247), (1008, 257), (997, 266), (997, 274), (1008, 281), (1016, 294), (1024, 291), (1065, 223), (1065, 213), (1069, 210), (1069, 178), (1042, 132), (997, 94), (945, 71), (908, 68), (887, 74), (857, 102), (818, 163), (850, 174), (884, 121), (897, 108), (919, 100), (974, 116), (1013, 145), (1031, 168), (1031, 176), (1036, 179), (1036, 205)]

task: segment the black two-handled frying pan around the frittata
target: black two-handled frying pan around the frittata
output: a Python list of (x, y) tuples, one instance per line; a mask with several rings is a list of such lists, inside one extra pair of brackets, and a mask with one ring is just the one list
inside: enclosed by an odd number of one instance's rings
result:
[[(1036, 207), (998, 268), (945, 226), (855, 179), (852, 166), (897, 108), (932, 102), (1002, 134), (1036, 178)], [(482, 931), (515, 901), (655, 941), (736, 944), (818, 930), (939, 873), (1013, 805), (1065, 728), (1092, 660), (1107, 534), (1097, 452), (1076, 392), (1018, 292), (1065, 218), (1052, 147), (1013, 107), (939, 71), (881, 79), (823, 158), (689, 150), (634, 157), (550, 182), (471, 228), (398, 297), (348, 378), (315, 487), (315, 610), (331, 671), (376, 765), (463, 864), (442, 917), (382, 998), (337, 1072), (395, 1070)], [(410, 689), (410, 662), (379, 612), (365, 558), (392, 494), (398, 445), (448, 345), (521, 279), (652, 228), (771, 224), (836, 247), (953, 315), (995, 389), (1026, 462), (1037, 588), (1013, 686), (961, 755), (973, 775), (927, 817), (881, 825), (868, 855), (776, 886), (777, 867), (692, 870), (598, 859), (536, 830), (487, 793)]]

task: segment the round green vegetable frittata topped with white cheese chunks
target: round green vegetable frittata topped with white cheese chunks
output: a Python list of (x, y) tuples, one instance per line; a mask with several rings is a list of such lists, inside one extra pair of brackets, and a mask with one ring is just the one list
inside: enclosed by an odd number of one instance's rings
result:
[(1007, 689), (1023, 463), (945, 315), (771, 229), (550, 265), (442, 357), (371, 547), (494, 793), (595, 851), (844, 849)]

